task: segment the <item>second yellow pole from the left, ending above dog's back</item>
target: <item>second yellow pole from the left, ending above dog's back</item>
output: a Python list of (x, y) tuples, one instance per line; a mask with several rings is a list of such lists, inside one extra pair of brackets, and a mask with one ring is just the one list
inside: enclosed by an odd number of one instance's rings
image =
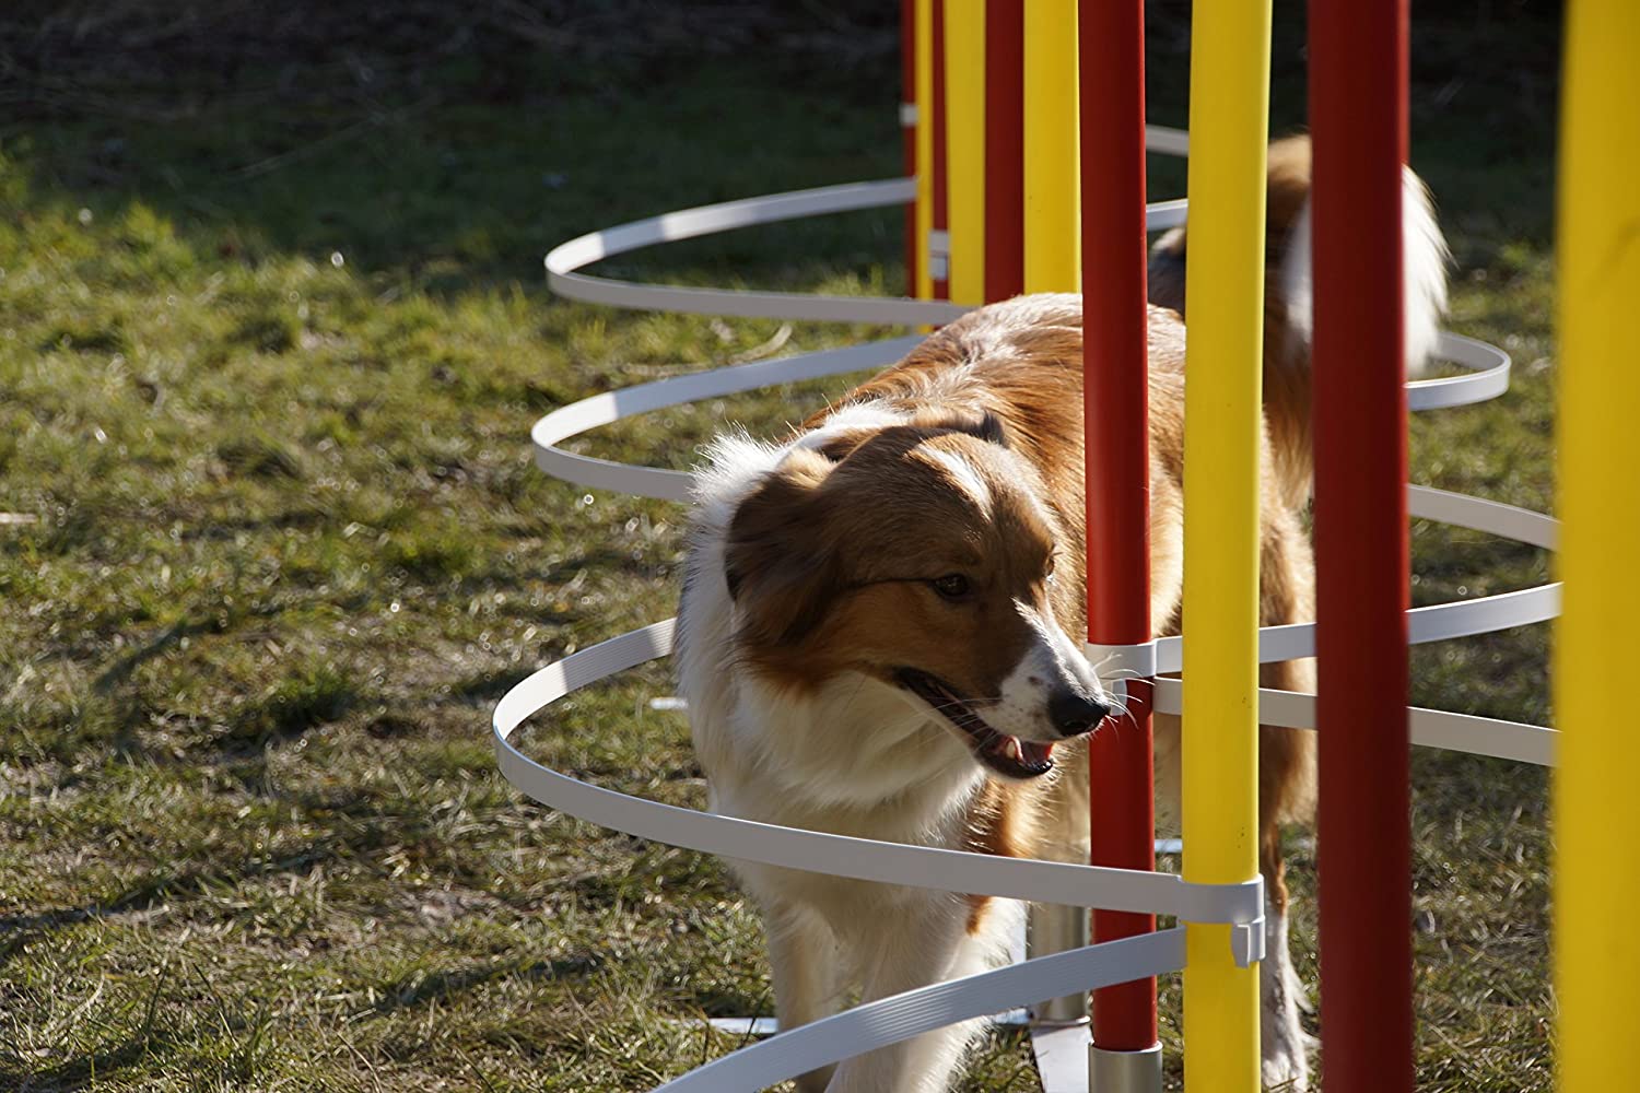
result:
[(945, 177), (953, 303), (986, 302), (986, 0), (945, 0)]

